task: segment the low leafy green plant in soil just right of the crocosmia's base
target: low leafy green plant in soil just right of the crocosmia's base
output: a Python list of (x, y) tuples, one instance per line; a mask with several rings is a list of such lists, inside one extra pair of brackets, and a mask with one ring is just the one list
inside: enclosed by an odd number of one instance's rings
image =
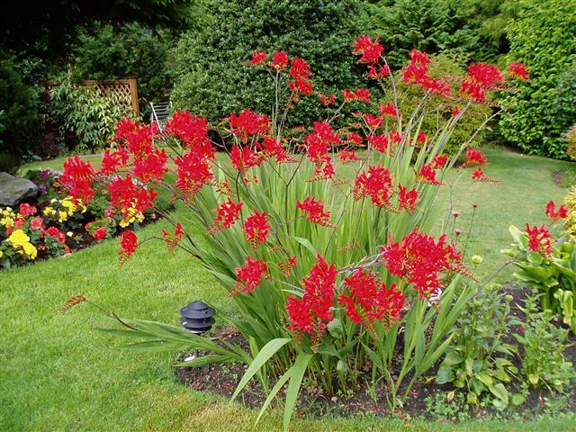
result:
[(464, 389), (466, 401), (478, 404), (484, 394), (498, 409), (509, 404), (507, 383), (518, 374), (510, 359), (518, 348), (505, 342), (518, 320), (506, 293), (488, 286), (468, 303), (457, 321), (453, 343), (437, 372), (437, 383)]

